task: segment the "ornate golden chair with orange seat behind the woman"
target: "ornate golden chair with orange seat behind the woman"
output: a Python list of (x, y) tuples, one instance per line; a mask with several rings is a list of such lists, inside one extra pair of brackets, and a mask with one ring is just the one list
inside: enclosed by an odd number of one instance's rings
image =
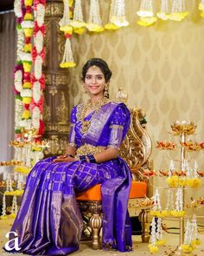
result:
[[(145, 200), (148, 191), (147, 181), (143, 179), (143, 168), (149, 167), (151, 153), (150, 136), (141, 125), (141, 120), (145, 114), (143, 110), (131, 109), (131, 127), (125, 136), (120, 155), (131, 167), (132, 181), (131, 193), (129, 196), (129, 207), (137, 207), (138, 200)], [(83, 218), (85, 218), (85, 232), (92, 238), (92, 248), (99, 248), (99, 231), (102, 226), (101, 192), (100, 184), (88, 189), (85, 193), (77, 196)], [(134, 200), (137, 200), (134, 202)], [(139, 207), (139, 219), (142, 223), (142, 240), (147, 242), (150, 238), (146, 207)], [(91, 231), (89, 230), (91, 227)], [(150, 226), (150, 225), (149, 225)]]

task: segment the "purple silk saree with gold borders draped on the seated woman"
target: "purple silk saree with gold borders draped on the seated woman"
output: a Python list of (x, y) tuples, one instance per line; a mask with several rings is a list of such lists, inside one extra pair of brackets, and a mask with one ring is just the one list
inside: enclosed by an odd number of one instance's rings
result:
[[(105, 125), (94, 126), (94, 121), (101, 121), (105, 111), (104, 124), (110, 124), (118, 105), (108, 106), (109, 109), (110, 107), (112, 111), (108, 113), (105, 105), (92, 120), (92, 132), (81, 136), (81, 145), (85, 141), (92, 141), (93, 146), (105, 146), (99, 143), (99, 137), (106, 136), (104, 131), (107, 128)], [(120, 107), (124, 108), (123, 105)], [(87, 118), (91, 118), (91, 115)], [(80, 123), (76, 123), (76, 134), (77, 126), (79, 128)], [(94, 133), (92, 128), (95, 128)], [(123, 131), (123, 135), (120, 135), (121, 139), (125, 133)], [(114, 131), (114, 138), (115, 135)], [(113, 141), (118, 140), (115, 138)], [(103, 246), (112, 246), (121, 252), (130, 251), (131, 222), (127, 203), (131, 172), (124, 160), (117, 158), (99, 164), (82, 161), (59, 163), (53, 160), (54, 157), (39, 161), (28, 176), (22, 205), (11, 228), (11, 231), (18, 234), (21, 250), (14, 249), (11, 253), (66, 255), (78, 250), (83, 220), (77, 207), (75, 192), (85, 191), (98, 183), (102, 184)], [(13, 238), (10, 234), (10, 240)], [(10, 242), (10, 247), (12, 246), (14, 241)]]

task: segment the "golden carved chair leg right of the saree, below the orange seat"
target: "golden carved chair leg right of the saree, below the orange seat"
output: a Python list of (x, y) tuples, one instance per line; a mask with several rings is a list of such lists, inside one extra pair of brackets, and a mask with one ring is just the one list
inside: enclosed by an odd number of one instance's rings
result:
[(142, 209), (142, 212), (139, 213), (139, 221), (142, 224), (142, 242), (149, 243), (150, 240), (150, 210)]

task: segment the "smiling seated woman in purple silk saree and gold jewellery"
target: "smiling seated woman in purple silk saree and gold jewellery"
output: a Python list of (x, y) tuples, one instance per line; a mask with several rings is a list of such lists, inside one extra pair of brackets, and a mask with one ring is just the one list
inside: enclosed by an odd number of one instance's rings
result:
[(67, 154), (39, 161), (28, 176), (11, 229), (18, 234), (18, 252), (66, 255), (76, 251), (83, 221), (75, 193), (98, 183), (102, 184), (103, 246), (131, 250), (127, 212), (131, 172), (118, 157), (130, 112), (124, 103), (109, 101), (111, 76), (102, 59), (92, 58), (84, 65), (82, 80), (90, 100), (73, 108)]

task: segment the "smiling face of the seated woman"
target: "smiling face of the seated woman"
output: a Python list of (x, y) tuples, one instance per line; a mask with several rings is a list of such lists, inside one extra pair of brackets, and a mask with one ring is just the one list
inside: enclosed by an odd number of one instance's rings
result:
[(106, 84), (105, 75), (99, 67), (92, 66), (87, 69), (85, 76), (85, 88), (90, 96), (103, 96)]

